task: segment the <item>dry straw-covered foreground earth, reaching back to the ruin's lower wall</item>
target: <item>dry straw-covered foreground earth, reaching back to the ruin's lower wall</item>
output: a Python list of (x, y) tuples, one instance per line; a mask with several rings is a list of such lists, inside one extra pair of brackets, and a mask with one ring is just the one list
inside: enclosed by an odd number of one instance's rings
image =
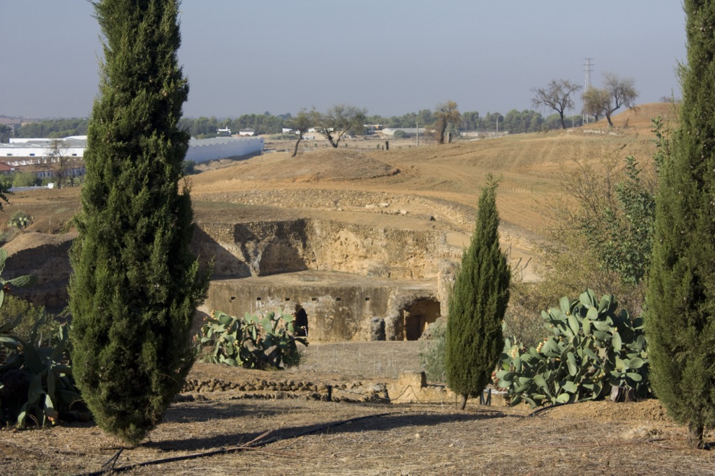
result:
[[(350, 393), (389, 383), (400, 369), (417, 370), (419, 346), (311, 345), (300, 368), (283, 372), (199, 363), (189, 380), (237, 388), (183, 394), (149, 439), (122, 451), (114, 467), (181, 476), (715, 474), (711, 452), (687, 449), (686, 428), (669, 420), (657, 400), (583, 402), (532, 416), (530, 408), (505, 407), (496, 397), (491, 406), (470, 400), (457, 411), (454, 402), (327, 402), (310, 390), (271, 390), (258, 398), (239, 388), (261, 381), (342, 383)], [(325, 388), (317, 393), (325, 395)], [(706, 437), (715, 439), (712, 432)], [(0, 475), (97, 472), (119, 447), (92, 423), (1, 430)]]

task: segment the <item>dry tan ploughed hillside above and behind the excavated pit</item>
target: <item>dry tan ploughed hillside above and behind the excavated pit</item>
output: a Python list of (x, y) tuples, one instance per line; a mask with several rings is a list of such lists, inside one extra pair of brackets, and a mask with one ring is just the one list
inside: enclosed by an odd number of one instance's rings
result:
[[(654, 151), (651, 118), (673, 121), (668, 103), (638, 106), (583, 128), (515, 134), (420, 148), (393, 142), (390, 151), (365, 141), (348, 148), (319, 148), (291, 158), (266, 153), (192, 176), (198, 221), (330, 218), (373, 227), (444, 231), (448, 243), (463, 245), (473, 226), (475, 203), (487, 173), (502, 177), (498, 206), (504, 245), (514, 258), (528, 258), (545, 226), (543, 207), (563, 199), (558, 181), (574, 159), (645, 160)], [(380, 204), (389, 204), (380, 207)], [(79, 189), (20, 192), (6, 216), (34, 217), (28, 231), (59, 233), (79, 211)], [(0, 223), (2, 231), (9, 231)], [(41, 240), (36, 236), (32, 243)], [(41, 243), (40, 243), (41, 244)]]

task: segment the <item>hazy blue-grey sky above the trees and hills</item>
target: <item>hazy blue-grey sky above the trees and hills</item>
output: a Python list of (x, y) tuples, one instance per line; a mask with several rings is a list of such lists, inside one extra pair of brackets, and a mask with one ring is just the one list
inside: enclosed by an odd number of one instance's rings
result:
[[(0, 0), (0, 114), (89, 115), (92, 13), (86, 0)], [(586, 58), (593, 86), (632, 77), (648, 103), (680, 96), (686, 59), (679, 0), (184, 0), (180, 18), (190, 117), (335, 103), (400, 116), (447, 100), (521, 111), (534, 86), (583, 84)]]

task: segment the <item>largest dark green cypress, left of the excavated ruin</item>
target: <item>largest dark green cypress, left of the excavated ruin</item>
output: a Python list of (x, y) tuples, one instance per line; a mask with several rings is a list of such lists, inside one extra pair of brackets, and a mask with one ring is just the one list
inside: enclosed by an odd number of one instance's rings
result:
[(189, 252), (193, 216), (177, 128), (188, 83), (177, 0), (99, 0), (99, 96), (69, 283), (77, 386), (125, 442), (162, 419), (194, 361), (189, 329), (207, 280)]

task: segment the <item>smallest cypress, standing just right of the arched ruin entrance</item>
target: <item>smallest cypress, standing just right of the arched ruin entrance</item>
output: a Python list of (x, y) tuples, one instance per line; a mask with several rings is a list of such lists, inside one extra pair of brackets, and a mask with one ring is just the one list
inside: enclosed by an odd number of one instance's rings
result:
[(509, 302), (511, 269), (499, 247), (498, 181), (489, 175), (479, 198), (477, 223), (450, 294), (445, 371), (454, 393), (483, 392), (504, 347), (501, 324)]

